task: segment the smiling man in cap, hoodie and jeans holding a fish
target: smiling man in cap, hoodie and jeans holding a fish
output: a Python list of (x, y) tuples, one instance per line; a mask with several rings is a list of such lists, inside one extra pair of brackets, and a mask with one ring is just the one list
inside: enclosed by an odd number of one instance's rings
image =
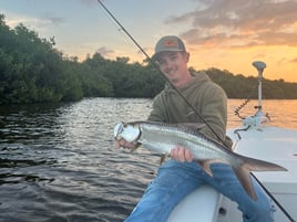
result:
[[(231, 146), (228, 137), (225, 136), (227, 124), (225, 92), (214, 84), (205, 73), (188, 71), (190, 53), (182, 40), (174, 35), (163, 36), (156, 43), (152, 60), (156, 61), (161, 72), (171, 84), (183, 94), (209, 125), (199, 131)], [(167, 83), (154, 98), (148, 120), (172, 124), (204, 123), (171, 84)], [(124, 140), (121, 140), (120, 145), (133, 148), (132, 144)], [(171, 158), (160, 167), (156, 178), (148, 184), (143, 198), (125, 222), (166, 222), (174, 207), (202, 184), (209, 184), (231, 200), (236, 201), (245, 222), (273, 221), (274, 208), (260, 187), (254, 181), (257, 200), (250, 199), (228, 165), (213, 163), (211, 168), (214, 177), (211, 177), (193, 161), (191, 151), (186, 147), (173, 148)], [(197, 205), (197, 208), (199, 207)]]

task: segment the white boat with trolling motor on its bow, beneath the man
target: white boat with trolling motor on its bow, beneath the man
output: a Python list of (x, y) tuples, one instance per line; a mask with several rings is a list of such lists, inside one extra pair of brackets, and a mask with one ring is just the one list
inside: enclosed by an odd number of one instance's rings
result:
[[(254, 172), (264, 189), (275, 199), (276, 222), (297, 220), (297, 130), (269, 126), (262, 110), (262, 75), (266, 67), (254, 62), (258, 71), (258, 106), (255, 115), (243, 119), (238, 128), (228, 129), (234, 151), (275, 162), (288, 169), (277, 172)], [(237, 203), (223, 197), (209, 186), (203, 186), (181, 201), (168, 222), (231, 222), (243, 221)]]

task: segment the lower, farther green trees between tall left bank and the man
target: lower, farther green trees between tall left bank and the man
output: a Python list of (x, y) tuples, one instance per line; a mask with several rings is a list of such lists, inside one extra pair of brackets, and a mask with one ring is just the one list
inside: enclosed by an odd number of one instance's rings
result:
[(82, 64), (110, 83), (104, 85), (114, 97), (154, 97), (164, 86), (162, 76), (150, 65), (131, 64), (129, 57), (110, 61), (96, 53)]

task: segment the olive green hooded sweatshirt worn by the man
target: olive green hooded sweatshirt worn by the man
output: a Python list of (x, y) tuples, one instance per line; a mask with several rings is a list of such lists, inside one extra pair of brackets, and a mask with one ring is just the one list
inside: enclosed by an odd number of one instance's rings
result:
[[(178, 88), (178, 91), (219, 138), (225, 141), (227, 96), (223, 88), (213, 83), (204, 72), (199, 72), (194, 75), (194, 78), (186, 86)], [(147, 119), (172, 124), (204, 123), (170, 84), (166, 84), (165, 88), (154, 98), (153, 109)], [(218, 140), (208, 126), (204, 126), (199, 131)]]

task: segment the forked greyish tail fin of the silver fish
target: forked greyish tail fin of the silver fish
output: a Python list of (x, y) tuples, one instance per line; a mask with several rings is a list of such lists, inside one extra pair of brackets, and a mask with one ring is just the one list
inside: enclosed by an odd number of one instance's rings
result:
[(257, 200), (257, 195), (255, 193), (250, 180), (250, 171), (287, 171), (287, 169), (273, 162), (267, 162), (253, 158), (244, 158), (244, 160), (239, 163), (239, 166), (233, 167), (233, 171), (235, 172), (239, 182), (246, 190), (247, 194), (253, 200)]

